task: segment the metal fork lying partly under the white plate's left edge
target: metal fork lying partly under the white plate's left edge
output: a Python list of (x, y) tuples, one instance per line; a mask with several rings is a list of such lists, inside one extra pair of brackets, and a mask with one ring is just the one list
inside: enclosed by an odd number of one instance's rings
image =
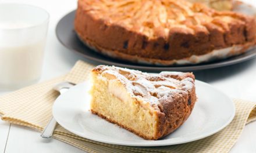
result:
[[(54, 90), (63, 94), (74, 85), (75, 84), (71, 83), (71, 82), (62, 82), (62, 83), (59, 83), (58, 85), (54, 86)], [(48, 122), (47, 126), (44, 128), (44, 131), (42, 132), (41, 137), (43, 137), (43, 138), (52, 137), (52, 133), (54, 133), (56, 124), (57, 124), (57, 122), (55, 121), (54, 117), (52, 117), (51, 120)]]

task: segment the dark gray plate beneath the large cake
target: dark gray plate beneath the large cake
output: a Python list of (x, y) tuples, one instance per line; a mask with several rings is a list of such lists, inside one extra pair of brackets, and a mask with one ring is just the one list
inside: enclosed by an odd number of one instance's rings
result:
[(86, 45), (79, 40), (74, 31), (74, 14), (76, 10), (66, 14), (56, 26), (56, 35), (59, 41), (72, 50), (73, 52), (81, 54), (90, 61), (96, 61), (98, 64), (116, 65), (119, 67), (132, 68), (143, 71), (195, 71), (204, 70), (209, 68), (224, 67), (236, 63), (241, 63), (246, 60), (250, 60), (256, 56), (256, 49), (248, 50), (244, 54), (239, 56), (230, 57), (225, 60), (218, 60), (209, 63), (202, 63), (197, 65), (181, 65), (181, 66), (156, 66), (156, 65), (143, 65), (134, 64), (127, 61), (111, 59), (110, 57), (102, 56), (99, 53), (89, 49)]

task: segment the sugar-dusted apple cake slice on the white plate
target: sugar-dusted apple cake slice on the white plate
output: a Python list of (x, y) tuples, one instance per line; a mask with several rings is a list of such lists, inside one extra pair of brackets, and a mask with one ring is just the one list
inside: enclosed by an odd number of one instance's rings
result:
[(91, 112), (147, 140), (179, 128), (196, 101), (191, 73), (147, 74), (99, 65), (91, 76)]

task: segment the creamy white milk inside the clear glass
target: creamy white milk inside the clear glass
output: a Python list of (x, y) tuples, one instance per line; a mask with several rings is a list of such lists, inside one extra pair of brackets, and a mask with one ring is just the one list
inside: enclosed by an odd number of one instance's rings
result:
[(41, 75), (44, 41), (0, 46), (0, 88), (15, 89), (36, 82)]

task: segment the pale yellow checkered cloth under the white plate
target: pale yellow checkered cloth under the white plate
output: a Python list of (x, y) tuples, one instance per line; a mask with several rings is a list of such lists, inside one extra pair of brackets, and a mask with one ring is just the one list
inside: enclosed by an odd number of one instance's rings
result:
[[(41, 131), (51, 119), (52, 104), (59, 95), (52, 89), (53, 86), (63, 81), (83, 82), (88, 79), (93, 67), (94, 65), (78, 61), (67, 75), (1, 96), (2, 120)], [(234, 104), (236, 115), (225, 129), (205, 139), (186, 144), (165, 147), (127, 147), (105, 144), (76, 136), (60, 125), (56, 127), (53, 137), (87, 152), (229, 152), (244, 126), (256, 120), (256, 103), (234, 100)]]

